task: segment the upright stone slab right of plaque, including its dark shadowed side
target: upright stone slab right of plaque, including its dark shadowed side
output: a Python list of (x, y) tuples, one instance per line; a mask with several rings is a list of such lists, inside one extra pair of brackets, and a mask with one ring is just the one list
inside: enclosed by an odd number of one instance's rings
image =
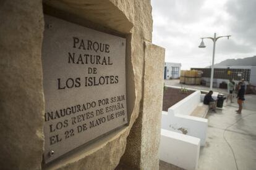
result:
[(145, 42), (143, 103), (129, 137), (120, 169), (159, 169), (164, 49)]

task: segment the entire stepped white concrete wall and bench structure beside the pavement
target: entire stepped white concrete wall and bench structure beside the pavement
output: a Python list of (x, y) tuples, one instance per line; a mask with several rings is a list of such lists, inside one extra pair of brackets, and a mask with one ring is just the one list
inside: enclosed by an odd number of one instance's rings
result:
[[(213, 94), (213, 99), (218, 93)], [(162, 111), (160, 160), (184, 169), (197, 168), (200, 145), (207, 138), (208, 105), (205, 94), (195, 91), (168, 111)]]

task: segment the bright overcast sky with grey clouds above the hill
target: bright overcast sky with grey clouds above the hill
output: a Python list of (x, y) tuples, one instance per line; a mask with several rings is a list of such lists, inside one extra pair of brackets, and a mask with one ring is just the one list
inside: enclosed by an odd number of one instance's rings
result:
[(182, 70), (211, 65), (213, 41), (201, 37), (231, 34), (216, 42), (215, 63), (256, 55), (256, 0), (151, 0), (153, 43), (165, 48), (165, 62)]

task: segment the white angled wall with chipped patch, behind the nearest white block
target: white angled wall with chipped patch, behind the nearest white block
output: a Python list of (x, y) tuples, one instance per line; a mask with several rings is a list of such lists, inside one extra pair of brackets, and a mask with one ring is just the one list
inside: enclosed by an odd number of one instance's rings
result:
[(195, 91), (170, 107), (168, 112), (162, 111), (161, 128), (198, 137), (200, 145), (205, 145), (208, 119), (190, 115), (198, 107), (200, 95), (200, 91)]

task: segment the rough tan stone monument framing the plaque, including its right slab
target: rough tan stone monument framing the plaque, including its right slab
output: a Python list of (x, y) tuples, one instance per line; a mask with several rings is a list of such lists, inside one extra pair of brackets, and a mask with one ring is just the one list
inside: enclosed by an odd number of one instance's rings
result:
[[(124, 155), (124, 166), (158, 169), (164, 49), (151, 44), (150, 1), (2, 1), (0, 8), (1, 167), (114, 169)], [(43, 13), (127, 38), (129, 124), (42, 166)]]

